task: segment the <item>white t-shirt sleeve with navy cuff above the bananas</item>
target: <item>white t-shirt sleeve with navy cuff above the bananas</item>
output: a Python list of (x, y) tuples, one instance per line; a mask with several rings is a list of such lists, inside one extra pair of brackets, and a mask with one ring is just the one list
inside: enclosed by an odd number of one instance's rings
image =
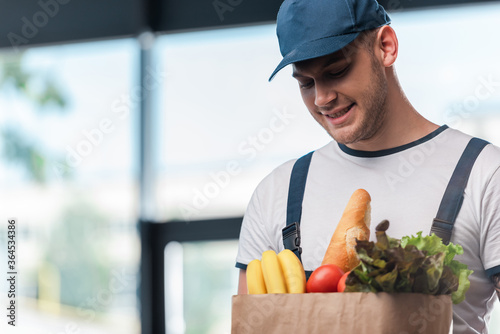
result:
[(258, 187), (254, 192), (243, 217), (238, 255), (236, 256), (236, 267), (240, 269), (246, 269), (250, 261), (260, 259), (262, 252), (265, 250), (275, 248), (272, 246), (269, 233), (266, 230), (266, 222), (262, 217), (262, 208), (259, 201), (261, 191), (263, 190)]

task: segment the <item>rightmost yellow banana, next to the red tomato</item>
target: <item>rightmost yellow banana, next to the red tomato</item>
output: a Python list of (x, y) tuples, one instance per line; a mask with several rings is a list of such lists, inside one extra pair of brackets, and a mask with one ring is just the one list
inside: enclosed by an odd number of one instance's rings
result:
[(288, 293), (306, 292), (306, 273), (297, 255), (284, 249), (278, 254), (278, 260), (285, 276)]

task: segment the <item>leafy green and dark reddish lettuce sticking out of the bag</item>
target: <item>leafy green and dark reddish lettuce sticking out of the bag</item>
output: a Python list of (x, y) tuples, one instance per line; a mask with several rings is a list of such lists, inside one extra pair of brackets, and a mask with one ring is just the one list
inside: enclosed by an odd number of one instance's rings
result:
[(472, 270), (453, 258), (463, 254), (460, 245), (445, 245), (432, 234), (406, 236), (401, 240), (387, 236), (389, 222), (376, 228), (376, 242), (357, 241), (360, 264), (346, 280), (347, 292), (416, 292), (451, 294), (454, 304), (465, 299)]

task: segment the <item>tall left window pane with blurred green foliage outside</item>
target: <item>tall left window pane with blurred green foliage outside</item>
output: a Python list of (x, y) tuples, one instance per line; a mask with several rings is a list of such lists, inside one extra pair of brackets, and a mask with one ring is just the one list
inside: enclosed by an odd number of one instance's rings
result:
[(0, 53), (0, 249), (17, 218), (22, 333), (139, 333), (136, 49)]

